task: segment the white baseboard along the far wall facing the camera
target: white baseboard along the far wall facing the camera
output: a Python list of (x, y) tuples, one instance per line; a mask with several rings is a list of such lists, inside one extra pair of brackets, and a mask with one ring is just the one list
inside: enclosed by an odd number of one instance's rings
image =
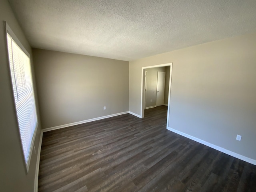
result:
[(112, 114), (112, 115), (106, 115), (106, 116), (102, 116), (102, 117), (88, 119), (88, 120), (84, 120), (84, 121), (68, 123), (68, 124), (65, 124), (65, 125), (59, 125), (59, 126), (55, 126), (55, 127), (46, 128), (46, 129), (43, 129), (42, 131), (43, 132), (52, 131), (52, 130), (56, 130), (56, 129), (61, 129), (61, 128), (70, 127), (70, 126), (74, 126), (74, 125), (79, 125), (79, 124), (83, 124), (83, 123), (88, 123), (88, 122), (92, 122), (92, 121), (97, 121), (97, 120), (101, 120), (101, 119), (106, 119), (106, 118), (110, 118), (110, 117), (114, 117), (114, 116), (118, 116), (118, 115), (123, 115), (123, 114), (127, 114), (127, 113), (129, 113), (129, 112), (126, 111), (126, 112), (116, 113), (116, 114)]

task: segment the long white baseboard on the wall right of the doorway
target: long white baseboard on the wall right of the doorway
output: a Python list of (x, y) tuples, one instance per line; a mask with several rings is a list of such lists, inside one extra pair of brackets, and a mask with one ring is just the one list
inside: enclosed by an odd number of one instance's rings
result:
[(216, 145), (214, 145), (214, 144), (208, 143), (208, 142), (206, 142), (206, 141), (204, 141), (204, 140), (198, 139), (198, 138), (196, 138), (196, 137), (194, 137), (194, 136), (191, 136), (191, 135), (188, 135), (188, 134), (186, 134), (186, 133), (180, 132), (180, 131), (175, 130), (175, 129), (173, 129), (173, 128), (168, 127), (167, 129), (170, 130), (170, 131), (172, 131), (172, 132), (174, 132), (174, 133), (177, 133), (177, 134), (179, 134), (179, 135), (182, 135), (182, 136), (184, 136), (184, 137), (186, 137), (186, 138), (189, 138), (189, 139), (192, 139), (192, 140), (194, 140), (194, 141), (196, 141), (196, 142), (199, 142), (199, 143), (201, 143), (201, 144), (204, 144), (204, 145), (206, 145), (206, 146), (208, 146), (208, 147), (210, 147), (210, 148), (214, 148), (214, 149), (216, 149), (216, 150), (218, 150), (218, 151), (220, 151), (220, 152), (226, 153), (226, 154), (231, 155), (231, 156), (233, 156), (233, 157), (235, 157), (235, 158), (238, 158), (238, 159), (240, 159), (240, 160), (243, 160), (243, 161), (246, 161), (246, 162), (248, 162), (248, 163), (251, 163), (251, 164), (256, 165), (256, 160), (254, 160), (254, 159), (248, 158), (248, 157), (246, 157), (246, 156), (237, 154), (237, 153), (232, 152), (232, 151), (230, 151), (230, 150), (227, 150), (227, 149), (225, 149), (225, 148), (222, 148), (222, 147), (216, 146)]

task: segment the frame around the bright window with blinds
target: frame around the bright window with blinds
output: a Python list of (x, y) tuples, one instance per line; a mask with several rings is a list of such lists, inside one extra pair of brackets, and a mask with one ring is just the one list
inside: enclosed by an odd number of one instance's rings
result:
[[(19, 134), (20, 149), (21, 149), (22, 156), (23, 156), (23, 162), (24, 162), (24, 166), (26, 168), (25, 169), (26, 170), (26, 174), (28, 174), (28, 170), (29, 170), (29, 166), (30, 166), (30, 160), (31, 160), (31, 156), (32, 156), (32, 152), (33, 152), (33, 147), (34, 147), (34, 141), (35, 141), (35, 138), (36, 138), (36, 132), (38, 130), (38, 111), (37, 111), (37, 106), (36, 106), (36, 96), (35, 96), (35, 89), (34, 89), (34, 83), (33, 83), (33, 73), (32, 73), (32, 66), (31, 66), (31, 59), (30, 59), (30, 54), (24, 48), (22, 43), (18, 40), (18, 38), (16, 37), (14, 32), (8, 26), (8, 24), (5, 21), (4, 21), (4, 24), (5, 24), (5, 28), (6, 28), (6, 30), (5, 30), (5, 32), (6, 32), (5, 37), (6, 37), (6, 50), (7, 50), (7, 58), (8, 58), (8, 70), (9, 70), (9, 74), (10, 74), (10, 85), (12, 86), (13, 107), (14, 107), (15, 116), (16, 116), (16, 126), (17, 126), (18, 134)], [(13, 88), (13, 84), (12, 84), (12, 74), (11, 74), (9, 49), (8, 49), (8, 34), (12, 38), (12, 40), (20, 47), (20, 49), (24, 52), (24, 54), (26, 54), (26, 56), (28, 56), (29, 65), (30, 65), (30, 74), (31, 74), (32, 89), (33, 89), (34, 101), (35, 101), (35, 110), (36, 110), (36, 126), (35, 126), (34, 133), (33, 133), (33, 136), (32, 136), (32, 140), (31, 140), (31, 143), (30, 143), (30, 149), (29, 149), (29, 152), (28, 152), (27, 162), (26, 162), (26, 156), (25, 156), (24, 151), (23, 151), (22, 138), (21, 138), (20, 127), (19, 127), (19, 123), (18, 123), (18, 115), (17, 115), (17, 111), (16, 111), (16, 102), (15, 102), (15, 96), (14, 96), (15, 93), (14, 93), (14, 88)]]

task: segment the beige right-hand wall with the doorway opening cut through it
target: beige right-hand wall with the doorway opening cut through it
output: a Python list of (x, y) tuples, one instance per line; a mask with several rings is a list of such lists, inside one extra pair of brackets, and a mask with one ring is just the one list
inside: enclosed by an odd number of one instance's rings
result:
[(141, 68), (170, 62), (169, 127), (256, 160), (256, 34), (130, 62), (131, 112), (140, 114)]

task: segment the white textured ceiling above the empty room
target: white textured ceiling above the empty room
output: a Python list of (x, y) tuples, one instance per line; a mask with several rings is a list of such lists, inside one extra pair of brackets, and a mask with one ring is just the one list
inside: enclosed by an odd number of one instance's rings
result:
[(256, 32), (256, 0), (9, 0), (34, 48), (135, 60)]

